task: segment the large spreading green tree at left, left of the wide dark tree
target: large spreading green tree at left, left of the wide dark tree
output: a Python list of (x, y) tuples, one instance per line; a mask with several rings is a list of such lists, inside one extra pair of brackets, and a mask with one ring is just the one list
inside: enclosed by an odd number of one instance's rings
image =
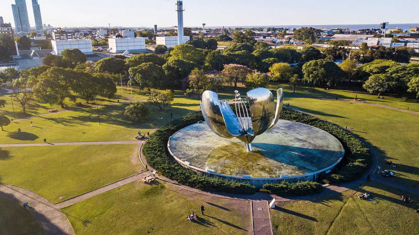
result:
[(76, 100), (71, 93), (71, 86), (77, 77), (78, 73), (72, 69), (52, 67), (39, 75), (34, 94), (42, 102), (59, 104), (64, 108), (65, 98), (70, 98), (70, 101)]

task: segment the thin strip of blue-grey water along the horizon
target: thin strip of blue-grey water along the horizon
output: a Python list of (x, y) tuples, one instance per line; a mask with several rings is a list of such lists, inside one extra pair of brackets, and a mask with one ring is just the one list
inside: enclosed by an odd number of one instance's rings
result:
[[(202, 28), (202, 26), (194, 26)], [(223, 26), (205, 26), (205, 28), (222, 28)], [(301, 28), (301, 27), (313, 27), (313, 28), (349, 28), (349, 30), (359, 30), (365, 28), (380, 28), (378, 24), (327, 24), (327, 25), (264, 25), (264, 26), (224, 26), (224, 28), (263, 28), (263, 27), (275, 27), (275, 28)], [(409, 31), (409, 28), (419, 27), (419, 23), (389, 23), (388, 28), (401, 28)]]

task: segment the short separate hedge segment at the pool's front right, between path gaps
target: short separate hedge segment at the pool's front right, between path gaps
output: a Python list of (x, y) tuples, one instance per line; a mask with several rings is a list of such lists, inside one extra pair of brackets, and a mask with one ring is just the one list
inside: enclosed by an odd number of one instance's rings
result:
[(320, 183), (313, 181), (298, 181), (297, 183), (289, 183), (282, 181), (282, 183), (268, 183), (264, 184), (261, 189), (262, 192), (268, 192), (278, 196), (305, 196), (311, 194), (318, 194), (323, 189)]

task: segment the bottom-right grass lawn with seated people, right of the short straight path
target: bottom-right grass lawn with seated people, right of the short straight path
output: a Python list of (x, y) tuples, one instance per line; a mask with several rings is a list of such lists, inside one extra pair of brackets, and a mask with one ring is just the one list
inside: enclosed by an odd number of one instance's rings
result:
[[(371, 192), (372, 199), (361, 200), (356, 194)], [(277, 201), (271, 209), (274, 234), (353, 235), (419, 234), (417, 202), (399, 199), (406, 192), (367, 181), (339, 194), (310, 200)], [(413, 195), (412, 199), (415, 200)]]

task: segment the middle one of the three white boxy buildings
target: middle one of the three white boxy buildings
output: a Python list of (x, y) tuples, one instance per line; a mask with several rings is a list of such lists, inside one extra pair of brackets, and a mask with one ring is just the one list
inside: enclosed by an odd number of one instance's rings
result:
[(146, 51), (145, 38), (113, 38), (108, 39), (108, 44), (108, 51), (112, 53)]

